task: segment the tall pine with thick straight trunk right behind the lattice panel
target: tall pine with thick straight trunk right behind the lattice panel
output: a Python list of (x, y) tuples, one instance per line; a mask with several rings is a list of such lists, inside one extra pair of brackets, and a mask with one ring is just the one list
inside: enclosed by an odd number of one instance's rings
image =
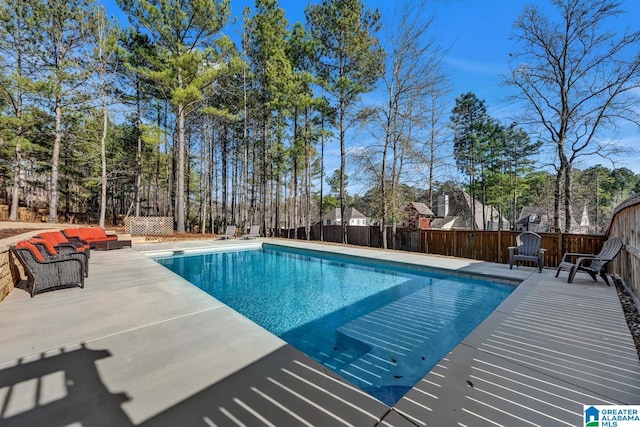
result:
[(214, 37), (230, 15), (229, 0), (118, 0), (136, 25), (148, 30), (159, 51), (155, 68), (147, 75), (166, 88), (176, 115), (177, 177), (176, 230), (185, 231), (185, 119), (202, 98), (202, 89), (215, 81), (227, 63)]

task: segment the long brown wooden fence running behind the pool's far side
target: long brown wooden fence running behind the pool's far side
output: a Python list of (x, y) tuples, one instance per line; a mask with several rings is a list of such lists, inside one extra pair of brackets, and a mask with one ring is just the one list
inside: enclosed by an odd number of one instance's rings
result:
[[(640, 212), (639, 212), (640, 215)], [(322, 227), (323, 241), (342, 242), (339, 225)], [(434, 255), (470, 258), (481, 261), (509, 263), (509, 246), (516, 245), (517, 231), (480, 230), (408, 230), (398, 229), (394, 236), (387, 229), (387, 248)], [(541, 247), (547, 250), (544, 257), (546, 267), (555, 268), (565, 252), (598, 253), (605, 241), (602, 235), (539, 233)], [(304, 228), (283, 230), (283, 236), (306, 239)], [(320, 240), (320, 226), (311, 227), (310, 240)], [(381, 248), (382, 232), (379, 227), (347, 226), (347, 243), (358, 246)]]

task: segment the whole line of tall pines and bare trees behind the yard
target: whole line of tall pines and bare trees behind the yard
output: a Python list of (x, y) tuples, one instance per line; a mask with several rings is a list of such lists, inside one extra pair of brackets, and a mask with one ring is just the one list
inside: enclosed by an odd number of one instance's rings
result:
[[(512, 217), (554, 200), (555, 225), (564, 216), (570, 230), (584, 174), (601, 185), (596, 217), (618, 181), (616, 194), (636, 190), (628, 169), (574, 165), (613, 158), (619, 147), (602, 133), (640, 122), (628, 104), (639, 36), (602, 30), (622, 13), (615, 2), (551, 3), (551, 18), (527, 6), (516, 22), (514, 58), (527, 65), (505, 81), (523, 114), (502, 123), (473, 92), (451, 106), (447, 49), (420, 1), (383, 20), (361, 0), (322, 0), (291, 25), (276, 0), (256, 0), (237, 43), (223, 33), (229, 0), (118, 0), (126, 27), (91, 0), (2, 2), (0, 199), (12, 220), (22, 205), (47, 208), (51, 222), (170, 216), (178, 232), (203, 233), (308, 231), (331, 207), (344, 218), (360, 206), (386, 233), (412, 191), (433, 206), (453, 185)], [(563, 28), (571, 34), (553, 38)], [(333, 141), (340, 165), (325, 171)], [(553, 174), (538, 171), (549, 147)], [(370, 189), (362, 197), (347, 194), (348, 161)], [(529, 200), (542, 181), (548, 199)]]

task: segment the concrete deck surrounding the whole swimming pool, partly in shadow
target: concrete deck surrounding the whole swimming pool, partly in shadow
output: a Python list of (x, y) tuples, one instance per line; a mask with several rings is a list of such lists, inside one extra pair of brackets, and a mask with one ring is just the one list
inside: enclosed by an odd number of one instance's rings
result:
[[(523, 282), (393, 408), (148, 254), (262, 242)], [(0, 425), (581, 425), (640, 404), (615, 288), (587, 275), (270, 239), (93, 251), (84, 289), (0, 303)]]

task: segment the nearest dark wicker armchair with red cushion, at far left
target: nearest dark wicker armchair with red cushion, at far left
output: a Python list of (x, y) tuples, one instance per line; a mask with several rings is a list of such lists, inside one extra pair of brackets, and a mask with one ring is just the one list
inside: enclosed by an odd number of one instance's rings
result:
[(62, 286), (84, 288), (84, 269), (78, 258), (46, 259), (36, 246), (27, 241), (11, 247), (27, 274), (31, 297), (36, 292)]

